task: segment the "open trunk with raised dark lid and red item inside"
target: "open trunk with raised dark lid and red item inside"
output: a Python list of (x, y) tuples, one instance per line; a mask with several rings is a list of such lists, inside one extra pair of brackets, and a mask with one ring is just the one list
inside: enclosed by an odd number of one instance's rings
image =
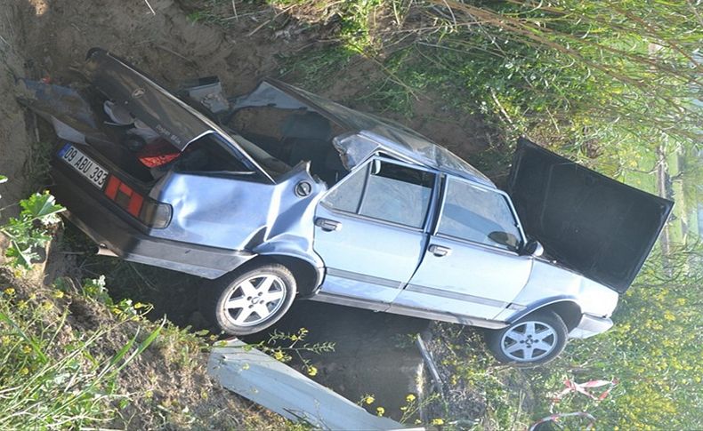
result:
[(78, 90), (25, 80), (20, 101), (52, 123), (61, 139), (88, 145), (130, 182), (149, 188), (170, 169), (271, 181), (213, 121), (124, 61), (92, 50), (85, 75), (91, 84)]

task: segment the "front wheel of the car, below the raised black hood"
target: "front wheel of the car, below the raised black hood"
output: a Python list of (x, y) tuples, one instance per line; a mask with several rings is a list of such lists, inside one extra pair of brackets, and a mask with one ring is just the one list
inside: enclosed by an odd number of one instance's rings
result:
[(530, 368), (560, 355), (568, 335), (562, 317), (554, 311), (537, 311), (503, 329), (487, 331), (486, 341), (499, 362)]

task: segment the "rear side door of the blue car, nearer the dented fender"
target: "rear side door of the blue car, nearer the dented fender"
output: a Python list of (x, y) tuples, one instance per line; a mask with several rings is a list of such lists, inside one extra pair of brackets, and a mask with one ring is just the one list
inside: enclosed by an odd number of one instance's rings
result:
[(336, 184), (315, 212), (313, 248), (326, 268), (320, 291), (390, 305), (423, 255), (435, 178), (376, 158)]

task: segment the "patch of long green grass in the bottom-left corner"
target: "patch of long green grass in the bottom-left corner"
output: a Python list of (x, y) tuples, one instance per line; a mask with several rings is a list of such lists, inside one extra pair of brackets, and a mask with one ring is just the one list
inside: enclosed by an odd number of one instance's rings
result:
[(101, 427), (115, 418), (130, 396), (115, 390), (119, 371), (161, 327), (136, 332), (117, 351), (100, 353), (101, 339), (113, 337), (126, 320), (80, 334), (68, 323), (63, 291), (5, 287), (0, 295), (0, 427)]

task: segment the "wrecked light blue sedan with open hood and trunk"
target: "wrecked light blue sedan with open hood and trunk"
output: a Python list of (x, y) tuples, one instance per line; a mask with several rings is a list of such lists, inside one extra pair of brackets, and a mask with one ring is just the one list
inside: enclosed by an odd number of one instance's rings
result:
[(53, 193), (102, 253), (206, 279), (202, 313), (230, 334), (312, 299), (478, 326), (498, 360), (546, 363), (610, 328), (673, 205), (529, 140), (503, 191), (400, 124), (277, 80), (168, 92), (101, 49), (83, 71), (21, 83), (59, 137)]

